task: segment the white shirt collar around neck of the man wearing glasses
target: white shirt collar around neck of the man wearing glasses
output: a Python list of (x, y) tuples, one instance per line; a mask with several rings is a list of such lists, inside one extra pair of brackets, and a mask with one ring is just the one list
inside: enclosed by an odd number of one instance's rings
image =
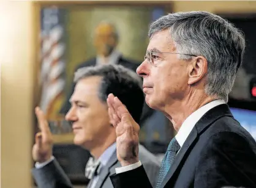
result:
[(210, 103), (205, 104), (204, 106), (195, 110), (195, 112), (193, 112), (191, 115), (189, 115), (189, 117), (186, 118), (175, 136), (177, 142), (181, 147), (183, 146), (184, 142), (186, 141), (197, 121), (200, 120), (200, 118), (203, 117), (203, 115), (205, 115), (205, 113), (208, 112), (210, 109), (220, 104), (225, 104), (225, 101), (220, 99), (211, 101)]

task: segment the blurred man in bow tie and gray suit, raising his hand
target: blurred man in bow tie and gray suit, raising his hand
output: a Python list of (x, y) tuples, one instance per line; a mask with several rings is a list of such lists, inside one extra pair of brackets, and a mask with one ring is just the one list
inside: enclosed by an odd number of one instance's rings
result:
[[(89, 188), (111, 188), (110, 174), (120, 167), (116, 156), (116, 131), (108, 116), (107, 97), (114, 93), (139, 123), (144, 103), (141, 79), (134, 71), (121, 65), (99, 65), (81, 68), (75, 73), (75, 90), (70, 98), (71, 108), (66, 120), (72, 123), (75, 145), (90, 151), (86, 176)], [(36, 109), (41, 132), (36, 134), (32, 170), (38, 187), (72, 187), (69, 178), (53, 157), (53, 140), (42, 110)], [(160, 164), (157, 157), (140, 145), (140, 160), (144, 162), (152, 186)], [(74, 161), (75, 162), (75, 161)]]

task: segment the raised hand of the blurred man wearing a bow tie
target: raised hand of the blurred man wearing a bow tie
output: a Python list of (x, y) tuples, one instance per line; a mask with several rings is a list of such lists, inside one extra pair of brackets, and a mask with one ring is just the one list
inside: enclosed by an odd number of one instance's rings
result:
[(45, 162), (50, 159), (53, 154), (53, 136), (51, 134), (48, 122), (43, 111), (36, 107), (35, 109), (40, 132), (37, 132), (32, 148), (32, 158), (36, 162)]

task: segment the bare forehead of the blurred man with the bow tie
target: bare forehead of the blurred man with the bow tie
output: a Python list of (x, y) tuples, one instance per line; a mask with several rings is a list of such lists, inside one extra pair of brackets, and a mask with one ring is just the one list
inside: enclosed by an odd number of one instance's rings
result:
[(98, 98), (101, 80), (101, 76), (89, 76), (88, 78), (78, 81), (75, 85), (75, 90), (71, 97), (71, 101), (85, 100), (87, 98)]

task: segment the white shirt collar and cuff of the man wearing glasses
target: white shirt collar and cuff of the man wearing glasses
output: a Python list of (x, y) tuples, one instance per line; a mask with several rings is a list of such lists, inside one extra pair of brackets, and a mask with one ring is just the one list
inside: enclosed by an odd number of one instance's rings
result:
[[(219, 106), (220, 104), (225, 104), (224, 100), (215, 100), (211, 101), (208, 104), (205, 104), (204, 106), (200, 107), (199, 109), (195, 110), (189, 117), (186, 118), (186, 120), (181, 125), (181, 128), (179, 128), (179, 131), (177, 132), (175, 138), (179, 145), (182, 147), (184, 142), (186, 141), (187, 137), (189, 136), (190, 132), (194, 128), (195, 124), (198, 120), (200, 120), (203, 115), (205, 115), (206, 112), (208, 112), (210, 109)], [(118, 167), (116, 168), (116, 173), (122, 173), (127, 172), (129, 170), (134, 170), (135, 168), (138, 168), (141, 166), (141, 162), (138, 161), (135, 164), (127, 165), (125, 167)]]

